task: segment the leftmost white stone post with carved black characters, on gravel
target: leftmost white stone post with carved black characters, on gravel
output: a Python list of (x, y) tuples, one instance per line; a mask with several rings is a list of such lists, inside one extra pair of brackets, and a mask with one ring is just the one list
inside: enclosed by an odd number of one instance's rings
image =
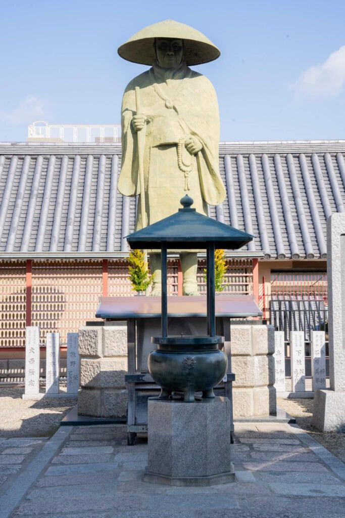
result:
[(25, 392), (23, 399), (39, 396), (39, 327), (27, 327), (25, 334)]

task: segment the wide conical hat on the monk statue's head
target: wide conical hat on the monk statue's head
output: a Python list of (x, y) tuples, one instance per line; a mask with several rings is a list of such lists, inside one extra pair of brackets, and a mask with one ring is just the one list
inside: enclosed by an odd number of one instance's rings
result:
[(156, 61), (155, 38), (183, 39), (184, 61), (187, 65), (208, 63), (216, 60), (220, 55), (220, 50), (201, 32), (174, 20), (164, 20), (144, 27), (121, 45), (117, 52), (124, 60), (153, 65)]

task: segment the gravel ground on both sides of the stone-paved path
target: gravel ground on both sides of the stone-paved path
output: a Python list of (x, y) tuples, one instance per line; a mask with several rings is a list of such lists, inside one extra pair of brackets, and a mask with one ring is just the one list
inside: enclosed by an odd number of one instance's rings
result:
[[(0, 386), (0, 437), (49, 437), (77, 403), (77, 398), (31, 401), (22, 399), (23, 393), (23, 386)], [(298, 426), (345, 463), (345, 434), (320, 433), (311, 426), (313, 399), (278, 398), (277, 404), (296, 418)]]

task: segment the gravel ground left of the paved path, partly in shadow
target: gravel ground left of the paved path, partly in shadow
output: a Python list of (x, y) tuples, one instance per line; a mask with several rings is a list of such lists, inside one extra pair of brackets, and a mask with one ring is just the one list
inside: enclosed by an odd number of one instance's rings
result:
[(0, 437), (48, 437), (77, 398), (22, 399), (22, 386), (0, 386)]

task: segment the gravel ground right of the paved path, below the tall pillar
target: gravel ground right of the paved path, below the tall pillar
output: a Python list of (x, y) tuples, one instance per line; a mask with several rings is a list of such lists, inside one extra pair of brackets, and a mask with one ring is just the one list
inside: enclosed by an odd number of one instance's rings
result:
[(298, 426), (306, 430), (313, 439), (320, 442), (324, 448), (345, 463), (345, 434), (337, 434), (331, 431), (321, 433), (311, 425), (314, 408), (313, 399), (277, 398), (277, 405), (296, 418)]

